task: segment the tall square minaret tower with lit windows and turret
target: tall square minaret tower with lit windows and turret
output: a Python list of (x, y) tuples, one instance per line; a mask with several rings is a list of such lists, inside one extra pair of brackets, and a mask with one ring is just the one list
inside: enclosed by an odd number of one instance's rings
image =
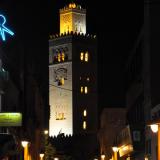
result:
[(97, 131), (97, 40), (85, 33), (85, 9), (60, 9), (60, 34), (49, 40), (50, 136)]

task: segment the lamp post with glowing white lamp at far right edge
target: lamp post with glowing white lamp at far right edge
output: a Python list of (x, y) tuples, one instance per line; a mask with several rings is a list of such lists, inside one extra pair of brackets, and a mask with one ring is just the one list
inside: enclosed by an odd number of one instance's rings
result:
[(148, 126), (150, 126), (152, 132), (157, 133), (157, 160), (160, 160), (160, 120), (151, 121), (148, 123)]

